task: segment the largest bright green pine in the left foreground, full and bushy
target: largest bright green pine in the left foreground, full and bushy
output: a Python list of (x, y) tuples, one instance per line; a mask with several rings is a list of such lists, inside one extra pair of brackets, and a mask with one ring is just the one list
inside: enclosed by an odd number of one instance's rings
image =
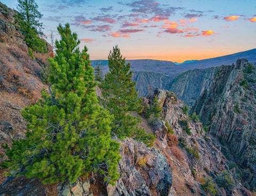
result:
[(57, 55), (50, 59), (50, 95), (44, 90), (43, 100), (22, 110), (29, 131), (11, 149), (6, 147), (9, 160), (2, 165), (43, 183), (74, 182), (92, 171), (113, 184), (121, 158), (119, 143), (110, 137), (113, 116), (98, 103), (87, 48), (79, 51), (80, 41), (68, 23), (58, 31)]

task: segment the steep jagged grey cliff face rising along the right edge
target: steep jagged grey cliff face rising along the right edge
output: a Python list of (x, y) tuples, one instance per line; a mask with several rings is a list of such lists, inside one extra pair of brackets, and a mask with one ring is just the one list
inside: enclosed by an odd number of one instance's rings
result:
[(196, 112), (215, 137), (225, 140), (237, 164), (250, 169), (245, 182), (256, 189), (256, 75), (246, 59), (221, 66), (212, 86), (196, 101)]

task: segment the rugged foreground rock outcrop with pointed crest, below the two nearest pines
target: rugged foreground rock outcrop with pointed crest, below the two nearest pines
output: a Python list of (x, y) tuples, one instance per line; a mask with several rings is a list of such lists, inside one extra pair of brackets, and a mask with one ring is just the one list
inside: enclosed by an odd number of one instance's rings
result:
[[(229, 169), (229, 160), (222, 154), (221, 144), (203, 131), (201, 123), (189, 119), (183, 112), (182, 101), (169, 91), (156, 90), (154, 96), (157, 96), (162, 107), (161, 118), (152, 121), (143, 117), (141, 122), (147, 131), (156, 134), (154, 147), (147, 148), (145, 144), (128, 138), (120, 141), (123, 158), (118, 166), (120, 177), (115, 186), (103, 183), (101, 176), (93, 174), (82, 176), (73, 184), (65, 182), (52, 185), (42, 185), (34, 178), (20, 176), (7, 179), (0, 186), (0, 194), (250, 195), (235, 172)], [(150, 105), (154, 96), (144, 98), (144, 105)], [(226, 186), (211, 181), (218, 193), (213, 194), (206, 180), (218, 180), (226, 170), (234, 184)]]

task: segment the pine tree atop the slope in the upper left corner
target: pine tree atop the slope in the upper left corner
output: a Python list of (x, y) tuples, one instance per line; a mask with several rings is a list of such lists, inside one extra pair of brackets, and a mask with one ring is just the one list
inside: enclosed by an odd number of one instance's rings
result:
[(46, 53), (45, 42), (38, 35), (43, 36), (42, 22), (39, 19), (43, 14), (38, 11), (38, 5), (34, 0), (18, 0), (17, 22), (20, 30), (25, 37), (26, 44), (29, 48), (37, 52)]

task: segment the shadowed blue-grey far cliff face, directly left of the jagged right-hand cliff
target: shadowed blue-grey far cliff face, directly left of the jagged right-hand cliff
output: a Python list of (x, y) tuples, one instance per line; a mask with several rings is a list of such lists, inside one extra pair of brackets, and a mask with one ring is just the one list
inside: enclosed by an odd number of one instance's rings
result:
[(204, 90), (209, 90), (219, 67), (189, 70), (175, 78), (167, 88), (188, 106), (193, 106)]

